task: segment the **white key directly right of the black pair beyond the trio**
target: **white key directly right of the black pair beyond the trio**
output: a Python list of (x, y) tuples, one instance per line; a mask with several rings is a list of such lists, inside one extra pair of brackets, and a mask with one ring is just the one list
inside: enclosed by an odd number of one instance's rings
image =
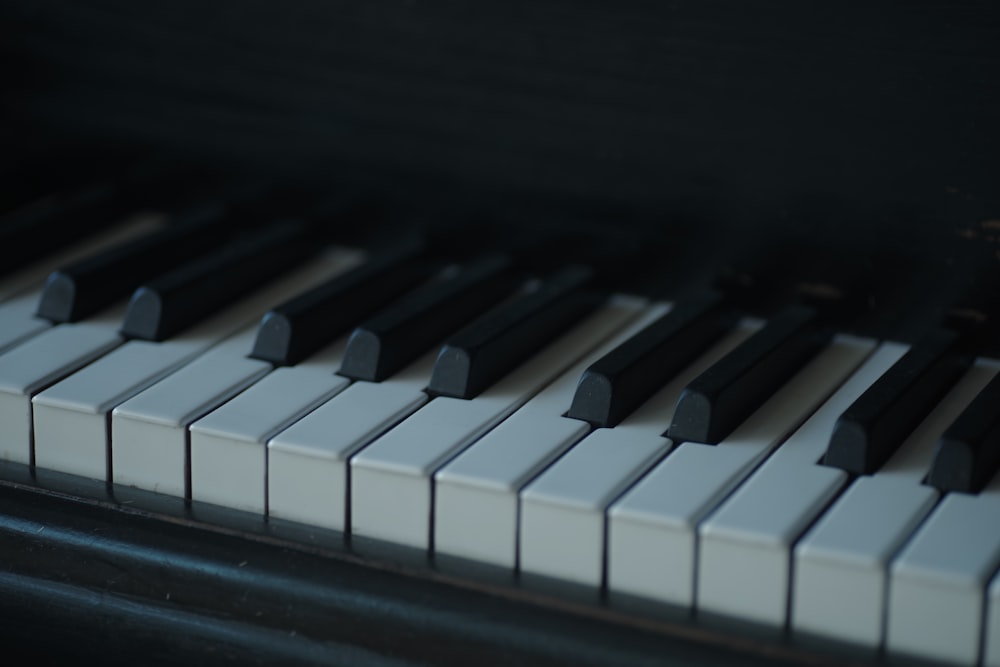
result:
[(698, 566), (704, 563), (698, 559), (701, 521), (836, 390), (863, 356), (855, 341), (834, 338), (729, 437), (714, 446), (681, 444), (615, 503), (609, 511), (612, 543), (616, 534), (628, 531), (633, 545), (644, 545), (646, 568), (656, 577), (645, 587), (635, 579), (627, 587), (609, 579), (609, 590), (692, 607)]

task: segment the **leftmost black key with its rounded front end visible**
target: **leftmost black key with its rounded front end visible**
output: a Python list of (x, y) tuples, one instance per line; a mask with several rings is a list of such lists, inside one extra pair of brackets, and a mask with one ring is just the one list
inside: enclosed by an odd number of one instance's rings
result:
[(143, 281), (204, 254), (230, 231), (225, 207), (200, 206), (162, 230), (61, 267), (49, 275), (36, 315), (76, 322), (128, 296)]

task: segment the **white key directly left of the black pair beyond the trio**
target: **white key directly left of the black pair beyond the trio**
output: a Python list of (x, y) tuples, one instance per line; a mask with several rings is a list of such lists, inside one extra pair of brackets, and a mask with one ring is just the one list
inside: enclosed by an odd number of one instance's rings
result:
[(586, 422), (563, 416), (580, 377), (669, 310), (652, 304), (434, 475), (435, 553), (517, 567), (519, 492), (590, 431)]

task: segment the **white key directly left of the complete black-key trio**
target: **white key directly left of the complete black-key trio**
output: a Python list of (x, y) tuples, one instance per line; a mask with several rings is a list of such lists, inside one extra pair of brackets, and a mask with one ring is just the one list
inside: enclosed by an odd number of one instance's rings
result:
[(188, 426), (272, 368), (247, 357), (256, 331), (244, 329), (112, 411), (116, 484), (188, 496)]

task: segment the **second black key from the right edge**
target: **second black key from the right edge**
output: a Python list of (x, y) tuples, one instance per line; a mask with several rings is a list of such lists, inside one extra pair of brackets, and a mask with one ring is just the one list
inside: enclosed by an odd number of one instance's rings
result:
[(834, 424), (823, 463), (857, 475), (875, 472), (968, 368), (953, 331), (915, 344)]

